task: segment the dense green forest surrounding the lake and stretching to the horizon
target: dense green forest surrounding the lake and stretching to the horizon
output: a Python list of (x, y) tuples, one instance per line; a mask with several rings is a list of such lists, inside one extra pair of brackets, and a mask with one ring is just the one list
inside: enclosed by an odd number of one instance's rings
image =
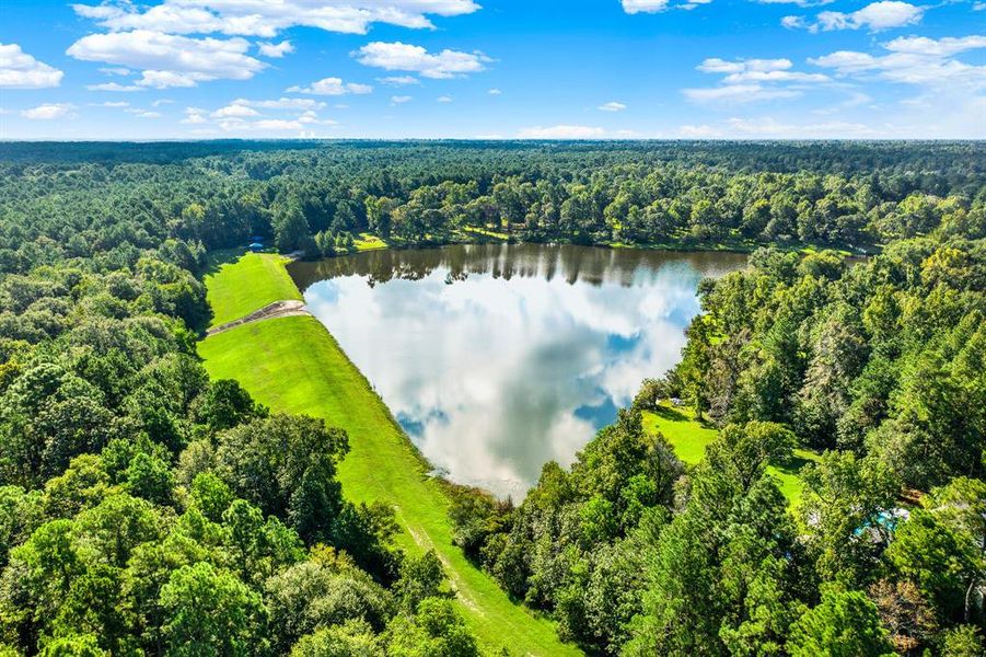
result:
[[(703, 283), (680, 365), (571, 469), (546, 464), (518, 506), (450, 487), (463, 551), (564, 638), (983, 654), (984, 155), (0, 145), (0, 654), (477, 654), (439, 560), (395, 548), (392, 509), (346, 500), (346, 434), (270, 413), (196, 357), (213, 252), (369, 235), (753, 252)], [(670, 399), (721, 428), (697, 466), (642, 426)], [(824, 456), (791, 508), (766, 465), (798, 447)]]

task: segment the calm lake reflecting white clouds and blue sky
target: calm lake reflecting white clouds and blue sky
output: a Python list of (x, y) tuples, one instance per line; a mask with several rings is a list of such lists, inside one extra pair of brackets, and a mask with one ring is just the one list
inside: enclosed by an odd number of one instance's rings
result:
[(523, 497), (680, 358), (731, 253), (457, 245), (295, 263), (309, 309), (425, 457)]

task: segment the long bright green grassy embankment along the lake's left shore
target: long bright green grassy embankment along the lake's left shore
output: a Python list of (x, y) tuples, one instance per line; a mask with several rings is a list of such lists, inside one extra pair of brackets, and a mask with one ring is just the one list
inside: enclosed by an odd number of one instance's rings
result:
[[(260, 280), (265, 277), (276, 280)], [(235, 319), (231, 309), (246, 314), (276, 300), (271, 295), (297, 298), (293, 286), (293, 295), (280, 291), (285, 281), (291, 284), (277, 256), (247, 256), (209, 278), (209, 299), (221, 304), (217, 316), (229, 321)], [(559, 643), (548, 620), (511, 602), (452, 544), (441, 484), (427, 476), (426, 464), (386, 406), (317, 320), (290, 316), (245, 324), (199, 343), (199, 355), (213, 378), (239, 380), (260, 403), (323, 417), (348, 431), (351, 451), (339, 471), (347, 497), (392, 505), (404, 530), (402, 546), (436, 550), (485, 648), (506, 646), (511, 655), (580, 654)]]

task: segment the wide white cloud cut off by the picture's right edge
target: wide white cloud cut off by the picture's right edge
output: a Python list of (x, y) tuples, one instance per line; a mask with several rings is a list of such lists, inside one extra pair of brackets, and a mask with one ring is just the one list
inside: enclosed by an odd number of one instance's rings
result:
[(952, 58), (966, 50), (986, 48), (986, 36), (941, 39), (900, 37), (883, 44), (883, 48), (889, 50), (888, 55), (837, 50), (809, 61), (833, 69), (836, 74), (847, 78), (877, 77), (948, 92), (986, 88), (986, 66), (970, 65)]

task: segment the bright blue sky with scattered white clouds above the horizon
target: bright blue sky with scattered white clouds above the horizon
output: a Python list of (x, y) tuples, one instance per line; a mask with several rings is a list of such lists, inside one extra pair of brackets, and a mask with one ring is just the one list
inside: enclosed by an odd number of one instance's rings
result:
[(986, 2), (3, 0), (0, 138), (984, 138)]

